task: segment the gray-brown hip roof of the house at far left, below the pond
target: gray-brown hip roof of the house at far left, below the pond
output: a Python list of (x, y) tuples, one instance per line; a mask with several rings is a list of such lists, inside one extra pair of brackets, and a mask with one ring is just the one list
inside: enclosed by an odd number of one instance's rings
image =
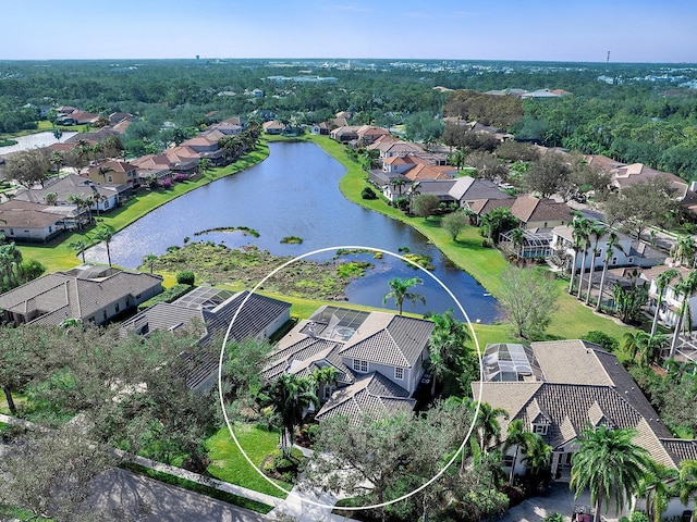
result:
[(137, 299), (161, 285), (159, 275), (115, 269), (102, 268), (96, 274), (56, 272), (0, 295), (0, 309), (22, 315), (37, 313), (32, 323), (58, 325), (69, 318), (86, 320), (122, 297)]

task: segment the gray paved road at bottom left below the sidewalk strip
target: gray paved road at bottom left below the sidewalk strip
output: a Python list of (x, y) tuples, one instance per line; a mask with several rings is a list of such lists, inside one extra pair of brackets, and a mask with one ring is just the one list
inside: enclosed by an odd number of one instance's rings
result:
[(121, 469), (94, 481), (87, 505), (114, 520), (139, 522), (269, 522), (276, 519), (213, 498), (162, 484)]

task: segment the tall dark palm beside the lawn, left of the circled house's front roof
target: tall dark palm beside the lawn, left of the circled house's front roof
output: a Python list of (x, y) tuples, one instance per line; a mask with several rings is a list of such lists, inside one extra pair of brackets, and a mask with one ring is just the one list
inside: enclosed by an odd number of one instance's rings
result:
[(305, 408), (319, 405), (314, 388), (311, 378), (284, 373), (269, 389), (269, 402), (281, 417), (281, 450), (286, 459), (291, 458), (293, 436), (295, 428), (303, 422)]

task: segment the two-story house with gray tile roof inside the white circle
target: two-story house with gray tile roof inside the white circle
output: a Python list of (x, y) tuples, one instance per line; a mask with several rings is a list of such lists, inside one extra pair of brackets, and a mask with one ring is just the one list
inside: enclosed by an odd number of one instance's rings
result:
[(359, 412), (411, 411), (428, 359), (433, 323), (386, 312), (321, 307), (278, 344), (261, 372), (310, 375), (331, 366), (337, 383), (319, 390), (319, 421)]

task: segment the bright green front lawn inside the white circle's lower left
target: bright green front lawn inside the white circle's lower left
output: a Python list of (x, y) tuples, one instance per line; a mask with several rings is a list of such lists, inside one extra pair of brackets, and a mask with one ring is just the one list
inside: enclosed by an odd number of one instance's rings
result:
[[(237, 424), (235, 426), (235, 436), (240, 445), (249, 456), (249, 459), (252, 459), (257, 467), (261, 467), (264, 459), (277, 449), (279, 444), (278, 433), (267, 432), (247, 424)], [(228, 426), (221, 427), (218, 433), (206, 440), (206, 448), (212, 461), (208, 467), (208, 473), (216, 478), (279, 498), (285, 498), (288, 496), (285, 493), (269, 484), (266, 478), (249, 465), (230, 436)], [(286, 482), (273, 482), (288, 490), (293, 487), (293, 484)]]

